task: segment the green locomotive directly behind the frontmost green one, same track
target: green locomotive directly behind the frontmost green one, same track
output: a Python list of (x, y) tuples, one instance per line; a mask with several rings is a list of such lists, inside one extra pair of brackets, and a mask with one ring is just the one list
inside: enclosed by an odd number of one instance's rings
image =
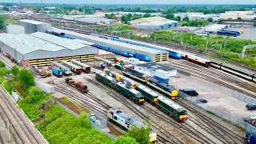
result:
[(150, 102), (150, 103), (158, 102), (158, 94), (150, 89), (147, 89), (145, 86), (138, 86), (136, 90), (142, 93), (142, 95), (144, 96), (147, 102)]

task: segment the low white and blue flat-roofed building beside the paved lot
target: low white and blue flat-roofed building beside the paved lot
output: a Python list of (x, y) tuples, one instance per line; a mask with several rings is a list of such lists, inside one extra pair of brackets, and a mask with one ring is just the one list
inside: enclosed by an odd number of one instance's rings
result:
[(170, 68), (168, 66), (163, 66), (158, 63), (150, 62), (150, 63), (143, 63), (143, 64), (138, 64), (134, 66), (134, 70), (142, 73), (142, 74), (147, 74), (150, 77), (155, 76), (156, 70), (163, 70), (169, 73), (169, 77), (174, 77), (177, 75), (177, 70)]

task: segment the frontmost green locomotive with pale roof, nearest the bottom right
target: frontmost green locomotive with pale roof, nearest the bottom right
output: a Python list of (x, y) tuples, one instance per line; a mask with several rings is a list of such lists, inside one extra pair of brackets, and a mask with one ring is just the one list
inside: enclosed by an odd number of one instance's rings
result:
[(178, 121), (185, 121), (187, 119), (187, 111), (182, 106), (178, 106), (169, 99), (158, 96), (157, 106), (160, 110), (166, 114), (170, 114), (170, 116), (174, 117)]

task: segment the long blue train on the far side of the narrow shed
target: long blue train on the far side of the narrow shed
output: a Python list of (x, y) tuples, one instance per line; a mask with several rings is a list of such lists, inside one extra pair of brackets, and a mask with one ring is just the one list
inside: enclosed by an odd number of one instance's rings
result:
[(182, 58), (182, 55), (179, 54), (178, 52), (176, 52), (176, 50), (166, 49), (165, 47), (162, 47), (162, 46), (154, 46), (149, 43), (133, 41), (130, 39), (128, 40), (125, 38), (117, 38), (117, 37), (109, 36), (106, 34), (92, 34), (92, 35), (98, 36), (99, 38), (110, 39), (112, 41), (117, 41), (117, 42), (124, 42), (124, 43), (128, 43), (128, 44), (135, 45), (135, 46), (145, 46), (147, 48), (156, 49), (156, 50), (166, 50), (169, 52), (170, 58), (176, 58), (176, 59)]

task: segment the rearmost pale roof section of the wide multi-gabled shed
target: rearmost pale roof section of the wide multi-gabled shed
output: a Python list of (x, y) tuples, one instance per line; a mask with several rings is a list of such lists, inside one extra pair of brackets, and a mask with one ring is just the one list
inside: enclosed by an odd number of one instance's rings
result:
[(58, 46), (63, 46), (66, 47), (67, 49), (70, 50), (77, 50), (80, 49), (82, 47), (85, 47), (86, 45), (79, 43), (79, 42), (74, 42), (74, 40), (72, 39), (68, 39), (68, 38), (59, 38), (57, 36), (54, 36), (52, 34), (46, 34), (46, 33), (42, 33), (42, 32), (36, 32), (31, 34), (34, 37), (37, 38), (41, 38), (47, 42), (52, 42)]

